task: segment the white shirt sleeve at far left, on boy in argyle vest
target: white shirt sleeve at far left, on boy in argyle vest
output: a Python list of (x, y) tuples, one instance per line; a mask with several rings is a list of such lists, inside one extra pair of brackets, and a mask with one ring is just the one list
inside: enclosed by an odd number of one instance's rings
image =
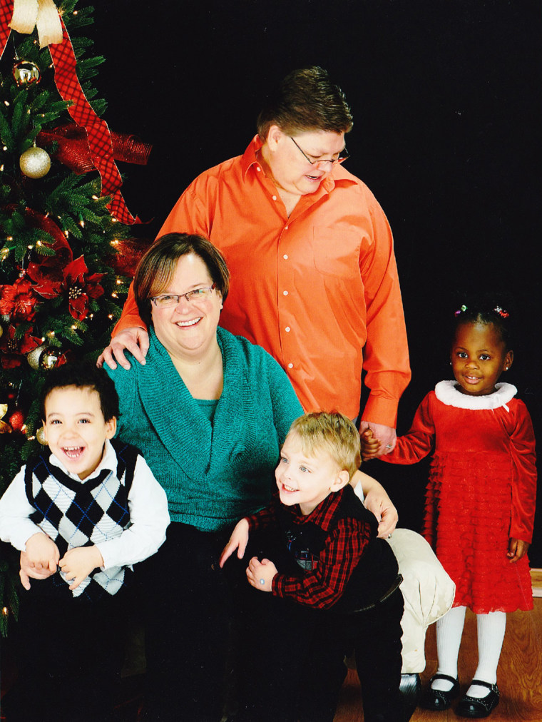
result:
[(9, 484), (0, 498), (0, 539), (12, 544), (19, 552), (26, 551), (30, 536), (37, 532), (44, 534), (40, 527), (30, 521), (35, 508), (30, 504), (25, 492), (25, 466)]

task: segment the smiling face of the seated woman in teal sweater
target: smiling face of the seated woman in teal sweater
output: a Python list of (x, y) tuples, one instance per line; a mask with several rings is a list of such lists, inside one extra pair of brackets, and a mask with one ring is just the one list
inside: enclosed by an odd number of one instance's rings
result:
[[(172, 279), (160, 294), (181, 294), (208, 288), (213, 281), (204, 261), (195, 253), (179, 258)], [(197, 358), (217, 344), (217, 326), (222, 309), (218, 290), (203, 300), (188, 302), (180, 297), (172, 308), (156, 308), (152, 303), (152, 323), (157, 339), (172, 357)]]

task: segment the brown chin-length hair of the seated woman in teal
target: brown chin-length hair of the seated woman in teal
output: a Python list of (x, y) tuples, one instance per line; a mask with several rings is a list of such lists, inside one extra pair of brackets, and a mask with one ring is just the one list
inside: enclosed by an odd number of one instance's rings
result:
[(201, 258), (209, 271), (222, 303), (230, 290), (230, 271), (222, 253), (201, 235), (167, 233), (158, 238), (141, 258), (134, 276), (134, 296), (139, 316), (150, 326), (151, 298), (165, 291), (177, 269), (179, 258), (193, 253)]

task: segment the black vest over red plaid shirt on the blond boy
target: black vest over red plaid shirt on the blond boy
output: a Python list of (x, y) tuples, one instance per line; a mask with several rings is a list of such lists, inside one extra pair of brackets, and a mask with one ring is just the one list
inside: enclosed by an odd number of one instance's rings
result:
[(390, 545), (384, 539), (377, 539), (378, 523), (375, 515), (364, 507), (349, 486), (345, 487), (344, 495), (328, 531), (310, 521), (296, 523), (295, 518), (289, 513), (289, 507), (281, 505), (279, 509), (282, 544), (297, 569), (304, 571), (311, 571), (317, 567), (319, 554), (325, 547), (326, 539), (333, 532), (336, 523), (343, 518), (355, 518), (368, 523), (371, 528), (371, 539), (354, 567), (341, 599), (332, 607), (333, 612), (338, 613), (353, 612), (375, 604), (397, 577), (397, 560)]

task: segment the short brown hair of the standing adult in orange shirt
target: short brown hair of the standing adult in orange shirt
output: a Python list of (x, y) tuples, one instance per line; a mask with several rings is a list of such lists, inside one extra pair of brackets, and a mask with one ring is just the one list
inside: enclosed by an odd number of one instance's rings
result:
[(300, 131), (348, 133), (352, 114), (344, 92), (331, 82), (328, 72), (312, 66), (294, 70), (284, 78), (269, 95), (256, 125), (262, 142), (272, 125), (287, 135)]

